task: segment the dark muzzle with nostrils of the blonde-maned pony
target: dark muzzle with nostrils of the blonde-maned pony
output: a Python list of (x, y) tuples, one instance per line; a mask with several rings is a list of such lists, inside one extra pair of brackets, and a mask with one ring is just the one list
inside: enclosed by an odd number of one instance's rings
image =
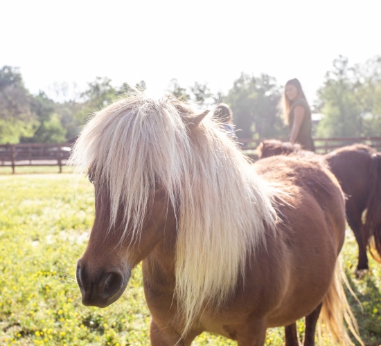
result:
[[(127, 274), (127, 273), (126, 273)], [(118, 268), (92, 273), (81, 260), (77, 262), (76, 279), (85, 306), (108, 307), (121, 297), (130, 273), (123, 275)]]

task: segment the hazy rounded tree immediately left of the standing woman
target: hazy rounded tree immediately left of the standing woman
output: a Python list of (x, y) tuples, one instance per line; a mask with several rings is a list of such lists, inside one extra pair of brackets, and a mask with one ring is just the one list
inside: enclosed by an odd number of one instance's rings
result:
[(236, 134), (239, 138), (284, 138), (287, 129), (278, 116), (281, 99), (280, 86), (276, 79), (262, 74), (241, 73), (233, 87), (223, 98), (233, 111)]

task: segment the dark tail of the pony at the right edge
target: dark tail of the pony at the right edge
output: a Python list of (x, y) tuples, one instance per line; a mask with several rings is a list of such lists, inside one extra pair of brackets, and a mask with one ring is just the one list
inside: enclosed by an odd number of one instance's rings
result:
[[(371, 193), (366, 201), (366, 218), (362, 234), (373, 258), (381, 262), (381, 154), (372, 154), (371, 158)], [(373, 249), (377, 252), (377, 256)]]

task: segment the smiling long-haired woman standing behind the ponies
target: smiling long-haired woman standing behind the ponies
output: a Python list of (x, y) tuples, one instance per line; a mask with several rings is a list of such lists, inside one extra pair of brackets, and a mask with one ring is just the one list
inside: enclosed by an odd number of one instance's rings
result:
[(285, 123), (291, 130), (290, 142), (299, 143), (303, 149), (314, 152), (311, 110), (301, 89), (301, 84), (296, 78), (289, 80), (285, 85), (283, 115)]

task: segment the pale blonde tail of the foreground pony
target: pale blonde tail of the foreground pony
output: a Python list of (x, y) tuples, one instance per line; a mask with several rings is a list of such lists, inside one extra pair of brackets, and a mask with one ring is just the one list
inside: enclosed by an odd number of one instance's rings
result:
[(335, 340), (338, 345), (354, 345), (348, 336), (346, 326), (344, 325), (345, 321), (353, 336), (360, 345), (364, 346), (359, 336), (357, 321), (346, 299), (343, 282), (355, 299), (360, 302), (352, 291), (351, 286), (349, 286), (348, 279), (343, 270), (341, 257), (339, 257), (336, 262), (333, 280), (323, 299), (323, 306), (321, 307), (318, 325), (319, 338), (324, 339), (328, 337), (330, 339), (330, 345), (333, 345), (333, 340)]

